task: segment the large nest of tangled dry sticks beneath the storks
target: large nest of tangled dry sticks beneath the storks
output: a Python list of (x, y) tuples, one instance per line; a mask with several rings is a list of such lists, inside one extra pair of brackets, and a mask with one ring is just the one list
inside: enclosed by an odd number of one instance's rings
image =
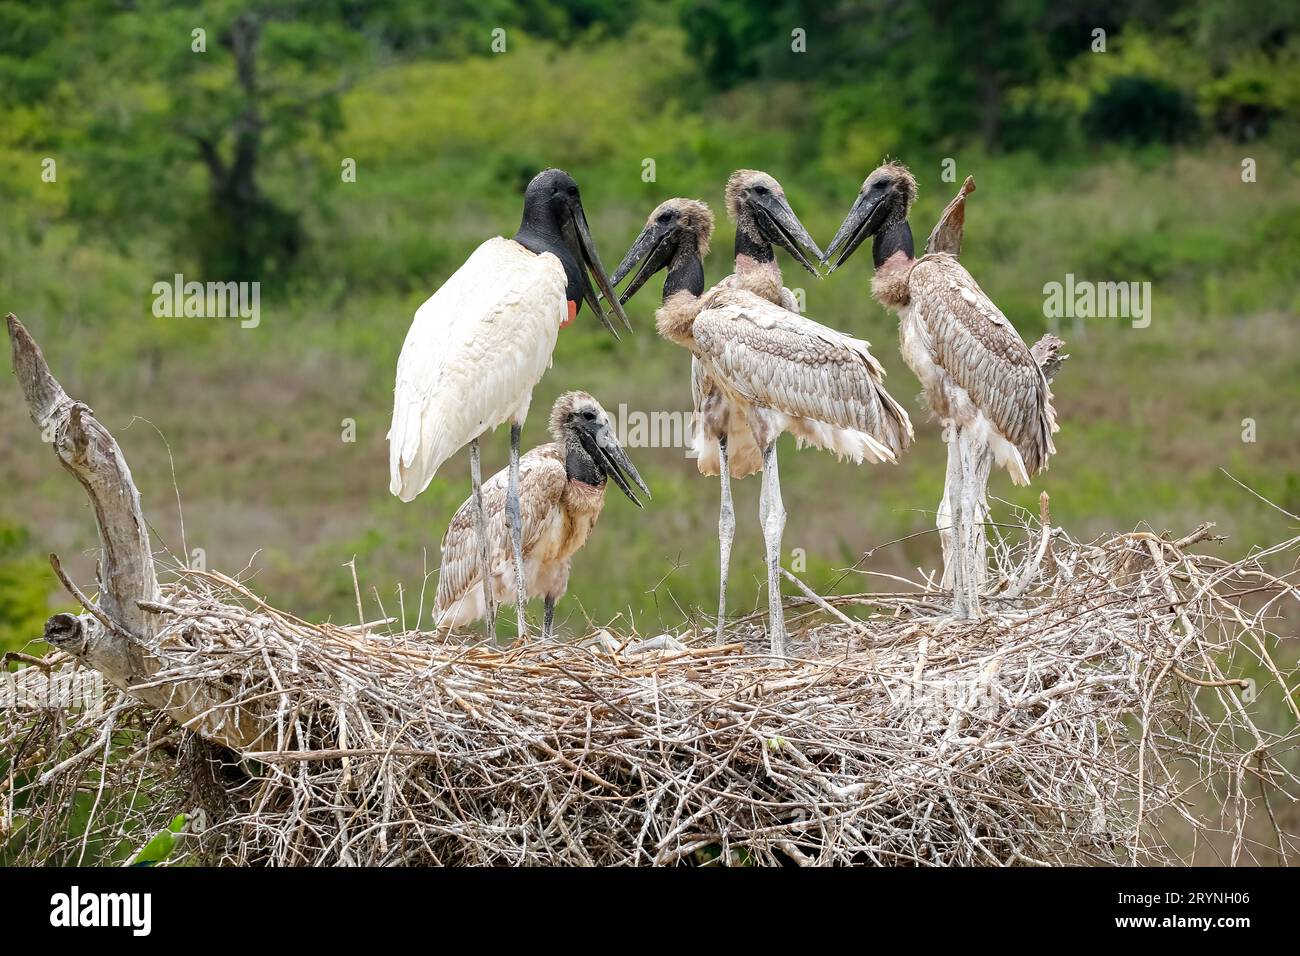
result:
[[(1026, 532), (994, 549), (984, 619), (923, 584), (810, 594), (785, 662), (753, 624), (504, 650), (312, 624), (186, 572), (155, 609), (153, 680), (222, 688), (261, 741), (214, 745), (112, 688), (4, 710), (0, 856), (122, 857), (186, 813), (173, 858), (239, 865), (1149, 864), (1205, 839), (1294, 858), (1270, 624), (1297, 592), (1264, 558), (1300, 538), (1227, 564), (1191, 553), (1204, 531)], [(1264, 697), (1286, 731), (1252, 717)]]

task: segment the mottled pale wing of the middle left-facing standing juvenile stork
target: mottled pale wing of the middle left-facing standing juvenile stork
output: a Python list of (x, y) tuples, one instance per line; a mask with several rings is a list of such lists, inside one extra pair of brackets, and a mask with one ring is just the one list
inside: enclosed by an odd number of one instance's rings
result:
[(701, 358), (746, 401), (866, 432), (896, 454), (911, 423), (868, 343), (746, 291), (708, 297), (693, 334)]

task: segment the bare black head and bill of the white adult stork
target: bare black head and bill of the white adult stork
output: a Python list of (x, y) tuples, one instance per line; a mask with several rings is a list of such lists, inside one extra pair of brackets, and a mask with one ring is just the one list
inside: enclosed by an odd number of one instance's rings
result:
[(515, 233), (515, 242), (538, 255), (550, 252), (564, 265), (568, 300), (572, 303), (571, 317), (586, 302), (604, 328), (615, 338), (619, 337), (618, 329), (601, 308), (597, 290), (588, 278), (590, 272), (610, 308), (630, 332), (632, 323), (615, 298), (614, 286), (610, 285), (595, 251), (592, 229), (582, 211), (582, 198), (572, 176), (563, 169), (543, 169), (533, 177), (524, 190), (524, 217)]

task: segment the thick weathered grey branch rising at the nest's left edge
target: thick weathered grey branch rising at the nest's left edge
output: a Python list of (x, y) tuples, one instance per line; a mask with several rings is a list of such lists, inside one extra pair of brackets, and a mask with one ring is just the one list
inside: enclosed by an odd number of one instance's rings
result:
[(8, 326), (13, 371), (31, 420), (86, 490), (101, 546), (95, 604), (68, 580), (51, 555), (56, 574), (87, 613), (52, 617), (46, 622), (46, 641), (200, 736), (224, 747), (256, 749), (265, 727), (243, 708), (231, 706), (221, 687), (203, 680), (142, 687), (155, 682), (164, 666), (157, 648), (157, 615), (144, 610), (142, 602), (156, 604), (162, 593), (131, 470), (95, 414), (64, 392), (40, 347), (13, 313)]

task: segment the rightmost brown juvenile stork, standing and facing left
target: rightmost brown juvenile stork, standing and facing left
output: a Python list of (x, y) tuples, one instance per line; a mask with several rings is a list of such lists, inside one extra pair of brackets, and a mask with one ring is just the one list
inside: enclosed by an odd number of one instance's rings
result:
[(833, 272), (874, 237), (871, 293), (898, 312), (904, 360), (920, 378), (948, 441), (937, 523), (950, 536), (954, 559), (945, 554), (944, 580), (953, 587), (954, 611), (978, 617), (989, 472), (996, 463), (1027, 485), (1044, 471), (1056, 454), (1056, 410), (1039, 359), (957, 258), (915, 258), (907, 225), (915, 198), (916, 181), (902, 164), (872, 170), (823, 261), (842, 248)]

